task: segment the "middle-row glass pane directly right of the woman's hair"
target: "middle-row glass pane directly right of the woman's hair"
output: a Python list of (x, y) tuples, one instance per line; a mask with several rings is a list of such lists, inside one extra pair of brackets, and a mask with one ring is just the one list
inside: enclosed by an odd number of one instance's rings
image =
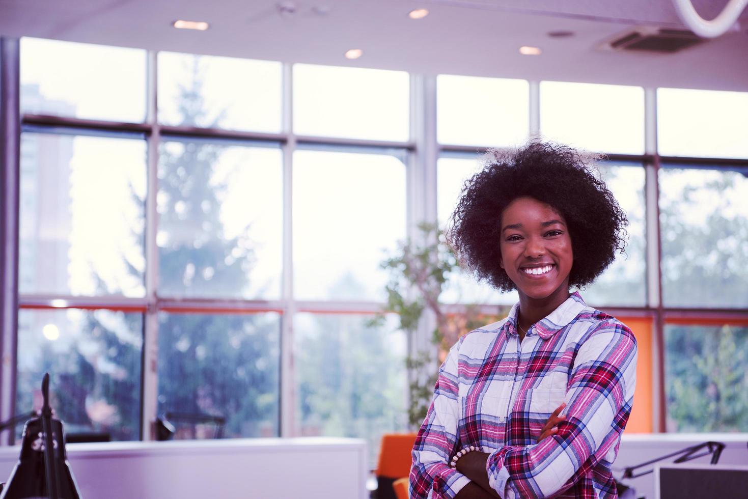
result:
[(599, 164), (598, 168), (628, 217), (626, 254), (616, 251), (616, 260), (581, 293), (585, 301), (595, 307), (643, 306), (647, 299), (644, 168), (609, 162)]

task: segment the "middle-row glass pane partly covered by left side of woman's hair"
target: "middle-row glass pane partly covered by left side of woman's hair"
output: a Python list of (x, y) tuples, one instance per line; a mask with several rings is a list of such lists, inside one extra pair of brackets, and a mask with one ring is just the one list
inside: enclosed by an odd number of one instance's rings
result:
[[(437, 162), (437, 212), (440, 227), (445, 227), (459, 200), (465, 181), (480, 171), (479, 159), (439, 158)], [(465, 304), (514, 304), (516, 291), (500, 293), (485, 282), (476, 282), (467, 272), (451, 275), (444, 286), (440, 301)]]

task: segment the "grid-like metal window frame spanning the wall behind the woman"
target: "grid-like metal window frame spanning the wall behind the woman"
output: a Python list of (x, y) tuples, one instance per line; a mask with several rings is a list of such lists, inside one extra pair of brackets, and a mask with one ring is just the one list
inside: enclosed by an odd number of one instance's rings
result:
[[(141, 440), (153, 439), (150, 421), (156, 417), (156, 398), (158, 396), (158, 379), (151, 368), (156, 366), (158, 358), (157, 335), (159, 311), (169, 312), (204, 312), (219, 313), (257, 313), (272, 311), (281, 314), (281, 387), (279, 400), (280, 436), (294, 435), (295, 399), (293, 368), (293, 317), (298, 312), (311, 313), (367, 313), (381, 310), (382, 303), (376, 301), (301, 301), (296, 300), (292, 284), (292, 156), (297, 148), (353, 147), (370, 151), (388, 149), (403, 150), (406, 167), (406, 221), (407, 235), (417, 237), (417, 224), (420, 221), (435, 223), (437, 219), (436, 175), (437, 160), (451, 154), (475, 154), (483, 147), (438, 144), (436, 129), (437, 114), (437, 76), (409, 74), (410, 110), (408, 141), (371, 141), (364, 139), (310, 137), (295, 135), (292, 131), (292, 77), (293, 65), (283, 63), (281, 72), (282, 108), (281, 132), (239, 132), (224, 129), (197, 129), (185, 126), (165, 126), (159, 124), (156, 108), (157, 58), (158, 52), (147, 51), (147, 114), (143, 123), (115, 123), (102, 120), (85, 120), (72, 117), (53, 117), (19, 112), (19, 40), (2, 38), (0, 40), (0, 119), (8, 124), (6, 132), (0, 138), (0, 153), (4, 165), (2, 172), (4, 215), (0, 226), (2, 237), (2, 274), (4, 290), (0, 294), (0, 319), (2, 324), (2, 355), (5, 359), (0, 386), (0, 418), (7, 419), (16, 411), (16, 328), (19, 309), (52, 309), (84, 308), (89, 310), (108, 309), (138, 311), (144, 314), (144, 344), (142, 358), (141, 389)], [(528, 81), (529, 102), (529, 136), (539, 133), (540, 123), (540, 82)], [(708, 162), (711, 165), (748, 166), (748, 159), (724, 158), (682, 158), (660, 157), (657, 153), (657, 89), (644, 88), (645, 93), (645, 153), (642, 155), (610, 154), (613, 161), (640, 162), (646, 171), (646, 296), (647, 301), (641, 307), (603, 307), (608, 313), (622, 317), (645, 317), (652, 320), (652, 428), (655, 432), (665, 429), (666, 403), (663, 387), (663, 331), (666, 322), (673, 319), (686, 320), (688, 323), (699, 321), (725, 321), (748, 323), (748, 310), (741, 309), (708, 309), (663, 307), (662, 277), (660, 270), (661, 247), (658, 208), (657, 172), (664, 162), (679, 164), (699, 164)], [(126, 298), (124, 296), (49, 296), (19, 295), (18, 293), (18, 174), (19, 174), (19, 137), (22, 127), (34, 129), (63, 128), (77, 133), (93, 132), (136, 132), (144, 134), (147, 141), (147, 195), (146, 195), (146, 234), (145, 257), (146, 295), (144, 298)], [(281, 296), (276, 300), (243, 300), (243, 299), (171, 299), (159, 297), (156, 293), (158, 275), (158, 247), (156, 246), (156, 193), (158, 191), (158, 151), (159, 144), (168, 137), (205, 138), (207, 140), (239, 140), (245, 142), (262, 141), (275, 144), (283, 153), (283, 266), (281, 275)], [(488, 145), (488, 144), (487, 144)], [(595, 305), (591, 303), (591, 305)], [(465, 304), (453, 304), (445, 307), (450, 313), (465, 310)], [(496, 305), (486, 304), (481, 307), (486, 313), (495, 313)], [(425, 317), (408, 348), (423, 349), (429, 347), (430, 331), (435, 324), (433, 319)], [(8, 432), (0, 444), (13, 444), (13, 432)]]

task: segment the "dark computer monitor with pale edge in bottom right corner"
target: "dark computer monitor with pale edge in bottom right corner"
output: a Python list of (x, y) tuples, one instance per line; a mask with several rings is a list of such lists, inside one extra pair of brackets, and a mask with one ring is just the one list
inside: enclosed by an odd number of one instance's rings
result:
[(748, 499), (748, 465), (655, 465), (656, 499)]

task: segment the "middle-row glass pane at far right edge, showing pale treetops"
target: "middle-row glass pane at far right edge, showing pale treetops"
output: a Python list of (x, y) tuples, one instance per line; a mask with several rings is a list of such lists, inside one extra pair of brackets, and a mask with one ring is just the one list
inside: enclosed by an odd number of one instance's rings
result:
[(748, 168), (660, 169), (663, 302), (748, 307)]

